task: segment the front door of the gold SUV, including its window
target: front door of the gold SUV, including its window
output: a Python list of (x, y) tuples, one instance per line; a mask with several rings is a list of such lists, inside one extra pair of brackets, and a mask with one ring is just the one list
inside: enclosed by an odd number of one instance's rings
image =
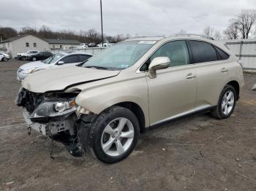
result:
[(149, 60), (162, 56), (170, 58), (170, 67), (158, 70), (156, 78), (146, 77), (151, 125), (195, 111), (196, 71), (186, 42), (167, 42)]

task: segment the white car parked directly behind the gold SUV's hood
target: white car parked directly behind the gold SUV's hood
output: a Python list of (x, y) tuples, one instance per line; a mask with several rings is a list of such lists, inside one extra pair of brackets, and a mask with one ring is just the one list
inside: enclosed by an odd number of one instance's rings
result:
[(58, 68), (60, 66), (72, 66), (78, 63), (83, 63), (93, 56), (92, 54), (85, 52), (59, 52), (44, 61), (35, 61), (31, 63), (25, 63), (17, 71), (18, 81), (23, 81), (25, 77), (35, 71), (44, 69)]

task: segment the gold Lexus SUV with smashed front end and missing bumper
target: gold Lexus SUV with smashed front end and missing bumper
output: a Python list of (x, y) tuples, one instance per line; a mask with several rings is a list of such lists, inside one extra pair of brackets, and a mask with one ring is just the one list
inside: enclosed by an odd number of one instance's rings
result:
[(243, 85), (241, 65), (222, 42), (138, 37), (81, 66), (29, 75), (16, 103), (31, 129), (61, 141), (72, 155), (86, 150), (116, 163), (145, 128), (202, 110), (230, 117)]

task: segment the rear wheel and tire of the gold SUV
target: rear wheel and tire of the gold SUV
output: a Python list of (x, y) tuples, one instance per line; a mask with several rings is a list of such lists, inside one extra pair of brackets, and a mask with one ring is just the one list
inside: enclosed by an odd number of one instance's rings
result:
[(235, 109), (236, 100), (237, 98), (235, 88), (232, 85), (225, 85), (222, 93), (219, 95), (218, 105), (214, 111), (211, 112), (211, 116), (219, 120), (230, 117)]

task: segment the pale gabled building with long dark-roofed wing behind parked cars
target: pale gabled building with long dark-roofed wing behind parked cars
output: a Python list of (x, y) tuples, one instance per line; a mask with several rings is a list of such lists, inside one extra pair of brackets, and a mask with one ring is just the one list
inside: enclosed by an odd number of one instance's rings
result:
[(69, 39), (41, 39), (37, 36), (27, 34), (15, 36), (0, 42), (0, 52), (8, 53), (15, 58), (17, 53), (28, 50), (50, 51), (77, 47), (77, 40)]

